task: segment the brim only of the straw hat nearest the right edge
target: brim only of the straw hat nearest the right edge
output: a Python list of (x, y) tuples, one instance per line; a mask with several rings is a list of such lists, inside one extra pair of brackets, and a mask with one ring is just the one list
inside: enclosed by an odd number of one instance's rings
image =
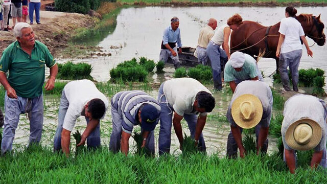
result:
[[(297, 127), (297, 125), (301, 123), (307, 123), (312, 127), (312, 137), (309, 143), (305, 145), (300, 145), (296, 143), (294, 139), (294, 130)], [(289, 147), (291, 147), (294, 150), (299, 150), (299, 151), (306, 151), (306, 150), (311, 150), (315, 148), (322, 137), (322, 130), (319, 124), (309, 118), (303, 118), (300, 120), (297, 120), (296, 122), (292, 123), (286, 130), (285, 132), (285, 141)]]

